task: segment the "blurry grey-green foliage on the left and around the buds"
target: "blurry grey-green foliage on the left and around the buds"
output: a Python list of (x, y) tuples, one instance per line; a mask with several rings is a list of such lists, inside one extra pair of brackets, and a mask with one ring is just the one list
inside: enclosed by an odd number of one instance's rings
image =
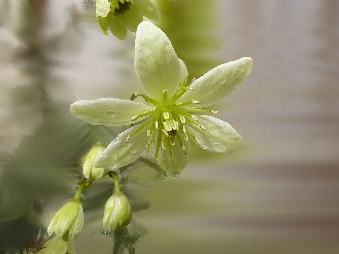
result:
[[(57, 68), (80, 56), (89, 38), (88, 27), (96, 20), (91, 1), (84, 1), (82, 7), (69, 5), (63, 28), (53, 31), (46, 25), (47, 2), (0, 2), (0, 25), (9, 38), (0, 40), (0, 67), (24, 77), (24, 82), (16, 85), (12, 80), (1, 84), (9, 87), (11, 119), (7, 124), (18, 132), (10, 145), (1, 144), (0, 149), (0, 253), (44, 253), (51, 246), (61, 252), (65, 248), (71, 251), (72, 244), (49, 240), (47, 225), (62, 204), (74, 196), (76, 183), (83, 178), (81, 162), (91, 147), (98, 142), (106, 146), (122, 131), (78, 121), (69, 112), (71, 92), (66, 88), (62, 99), (53, 94), (57, 86), (67, 87), (67, 82), (56, 75)], [(151, 172), (155, 180), (166, 176), (143, 158), (119, 169), (133, 212), (150, 207), (147, 200), (128, 188), (130, 182), (142, 182), (142, 174), (129, 177), (135, 169)], [(100, 227), (104, 204), (114, 190), (111, 180), (93, 184), (81, 196), (84, 228), (93, 227), (99, 237), (106, 237)], [(115, 251), (133, 249), (145, 236), (144, 229), (133, 229), (138, 228), (136, 225), (131, 223), (128, 230), (111, 235), (112, 242), (114, 237), (124, 242), (120, 249), (116, 243)]]

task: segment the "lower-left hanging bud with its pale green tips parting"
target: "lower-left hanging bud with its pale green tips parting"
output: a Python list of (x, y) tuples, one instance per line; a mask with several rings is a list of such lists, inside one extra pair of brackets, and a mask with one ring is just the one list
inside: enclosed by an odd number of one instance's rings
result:
[(84, 225), (81, 202), (73, 199), (64, 205), (53, 217), (47, 228), (49, 236), (55, 235), (64, 241), (78, 238)]

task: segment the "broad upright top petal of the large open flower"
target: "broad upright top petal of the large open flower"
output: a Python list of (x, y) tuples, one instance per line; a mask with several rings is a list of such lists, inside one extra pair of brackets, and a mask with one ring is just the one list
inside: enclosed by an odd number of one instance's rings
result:
[(134, 66), (147, 96), (161, 102), (164, 89), (167, 98), (174, 96), (181, 78), (180, 62), (167, 36), (152, 22), (143, 21), (137, 28)]

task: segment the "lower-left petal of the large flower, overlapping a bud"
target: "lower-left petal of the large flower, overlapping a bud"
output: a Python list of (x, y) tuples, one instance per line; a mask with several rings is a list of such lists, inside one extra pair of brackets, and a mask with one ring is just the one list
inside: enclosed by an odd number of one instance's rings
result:
[(128, 142), (126, 141), (127, 136), (137, 128), (139, 128), (139, 125), (119, 134), (94, 161), (94, 166), (97, 168), (120, 168), (139, 158), (148, 143), (148, 125), (134, 134)]

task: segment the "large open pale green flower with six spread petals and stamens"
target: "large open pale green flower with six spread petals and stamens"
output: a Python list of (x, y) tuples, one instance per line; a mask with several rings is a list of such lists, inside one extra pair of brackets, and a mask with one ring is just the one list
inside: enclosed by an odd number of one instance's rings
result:
[(169, 39), (151, 22), (140, 23), (135, 41), (135, 70), (148, 101), (117, 98), (82, 100), (71, 105), (71, 112), (93, 125), (126, 125), (140, 121), (107, 146), (94, 162), (99, 168), (119, 168), (135, 161), (145, 150), (152, 152), (154, 163), (172, 177), (179, 176), (187, 164), (189, 139), (214, 153), (230, 153), (243, 146), (242, 137), (228, 123), (200, 109), (220, 101), (239, 87), (250, 75), (253, 60), (243, 57), (221, 64), (189, 86), (188, 72)]

